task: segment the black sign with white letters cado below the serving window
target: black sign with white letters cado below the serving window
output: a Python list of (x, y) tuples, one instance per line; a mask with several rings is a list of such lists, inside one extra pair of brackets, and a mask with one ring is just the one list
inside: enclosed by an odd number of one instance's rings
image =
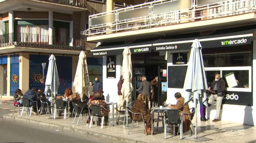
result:
[(252, 106), (252, 92), (226, 92), (222, 104)]

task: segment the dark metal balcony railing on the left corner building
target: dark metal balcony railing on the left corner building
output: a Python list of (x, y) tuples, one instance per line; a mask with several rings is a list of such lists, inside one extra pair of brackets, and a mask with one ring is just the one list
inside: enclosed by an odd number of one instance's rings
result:
[[(49, 44), (50, 39), (52, 39), (52, 44)], [(70, 43), (72, 46), (70, 46)], [(25, 33), (0, 35), (0, 47), (6, 47), (10, 45), (59, 48), (66, 50), (86, 50), (86, 39), (73, 39), (61, 36)]]

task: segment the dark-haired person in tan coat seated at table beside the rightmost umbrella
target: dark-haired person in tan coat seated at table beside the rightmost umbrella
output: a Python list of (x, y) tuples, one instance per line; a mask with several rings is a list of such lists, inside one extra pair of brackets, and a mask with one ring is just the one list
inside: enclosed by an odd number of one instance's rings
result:
[[(179, 109), (180, 115), (182, 113), (190, 113), (189, 104), (184, 105), (185, 99), (181, 96), (180, 92), (175, 93), (174, 95), (175, 99), (177, 100), (176, 105), (169, 105), (169, 108), (172, 109)], [(173, 127), (171, 127), (173, 130)], [(189, 115), (183, 115), (183, 133), (190, 130), (190, 120)], [(178, 133), (178, 127), (175, 127), (175, 135)]]

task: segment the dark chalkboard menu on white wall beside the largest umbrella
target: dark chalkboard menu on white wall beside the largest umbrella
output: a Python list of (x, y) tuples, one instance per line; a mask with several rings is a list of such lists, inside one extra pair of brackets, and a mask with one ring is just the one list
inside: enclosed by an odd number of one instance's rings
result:
[(168, 66), (168, 88), (183, 89), (187, 66)]

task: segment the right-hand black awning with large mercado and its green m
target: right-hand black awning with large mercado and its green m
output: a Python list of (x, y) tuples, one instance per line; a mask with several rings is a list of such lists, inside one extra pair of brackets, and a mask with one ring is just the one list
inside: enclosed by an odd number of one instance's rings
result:
[(247, 31), (230, 32), (226, 34), (215, 34), (209, 36), (192, 36), (191, 34), (182, 36), (172, 35), (156, 41), (153, 44), (153, 48), (154, 51), (189, 50), (195, 39), (199, 39), (202, 47), (204, 48), (246, 45), (251, 44), (251, 39), (252, 36), (254, 36), (255, 31), (256, 29), (251, 29)]

